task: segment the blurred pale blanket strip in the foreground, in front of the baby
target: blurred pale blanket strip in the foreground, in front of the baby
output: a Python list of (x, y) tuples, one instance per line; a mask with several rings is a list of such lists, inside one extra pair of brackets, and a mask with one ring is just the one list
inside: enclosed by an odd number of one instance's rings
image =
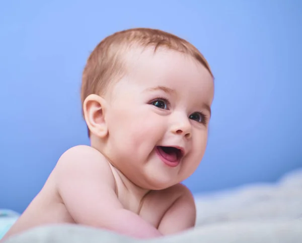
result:
[(301, 221), (224, 223), (163, 238), (138, 240), (79, 225), (57, 225), (29, 230), (5, 243), (301, 243)]

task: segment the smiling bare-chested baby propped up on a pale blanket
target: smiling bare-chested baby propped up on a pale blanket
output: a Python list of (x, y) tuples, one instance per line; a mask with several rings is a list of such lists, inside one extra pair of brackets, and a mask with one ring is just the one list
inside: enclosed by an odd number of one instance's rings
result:
[(136, 238), (193, 227), (194, 199), (180, 183), (203, 157), (213, 92), (207, 61), (187, 41), (144, 28), (105, 38), (82, 80), (91, 146), (60, 157), (5, 238), (61, 223)]

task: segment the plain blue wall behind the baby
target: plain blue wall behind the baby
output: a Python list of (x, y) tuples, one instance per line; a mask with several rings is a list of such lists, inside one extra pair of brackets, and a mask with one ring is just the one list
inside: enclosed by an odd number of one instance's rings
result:
[[(1, 1), (0, 208), (22, 212), (59, 156), (89, 144), (81, 74), (113, 32), (151, 27), (192, 42), (215, 76), (206, 193), (302, 167), (302, 1)], [(146, 138), (147, 139), (147, 138)]]

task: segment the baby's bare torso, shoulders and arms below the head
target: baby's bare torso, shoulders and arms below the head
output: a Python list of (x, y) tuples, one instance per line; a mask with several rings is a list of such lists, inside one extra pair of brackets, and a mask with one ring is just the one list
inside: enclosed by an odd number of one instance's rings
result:
[(61, 156), (40, 193), (3, 240), (36, 226), (58, 223), (156, 237), (193, 227), (195, 214), (193, 197), (185, 186), (144, 190), (97, 150), (77, 146)]

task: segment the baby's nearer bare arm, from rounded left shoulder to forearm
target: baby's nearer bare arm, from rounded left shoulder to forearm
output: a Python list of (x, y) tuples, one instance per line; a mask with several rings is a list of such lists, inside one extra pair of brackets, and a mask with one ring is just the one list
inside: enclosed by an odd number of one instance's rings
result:
[(137, 214), (123, 208), (115, 194), (108, 163), (91, 147), (73, 147), (61, 156), (57, 164), (57, 187), (76, 223), (138, 238), (162, 235)]

